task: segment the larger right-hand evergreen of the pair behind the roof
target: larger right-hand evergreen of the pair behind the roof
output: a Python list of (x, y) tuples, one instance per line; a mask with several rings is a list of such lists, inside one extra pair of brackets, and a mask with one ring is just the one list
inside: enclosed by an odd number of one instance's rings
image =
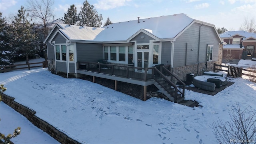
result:
[(102, 25), (102, 15), (94, 9), (93, 5), (90, 5), (86, 0), (81, 7), (79, 12), (79, 25), (81, 26), (90, 26), (99, 28)]

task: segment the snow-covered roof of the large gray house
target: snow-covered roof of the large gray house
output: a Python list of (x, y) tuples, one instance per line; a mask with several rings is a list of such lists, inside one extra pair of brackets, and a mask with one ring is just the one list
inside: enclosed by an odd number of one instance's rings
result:
[[(139, 22), (138, 22), (139, 21)], [(174, 14), (154, 18), (117, 22), (102, 28), (82, 27), (58, 24), (60, 32), (69, 40), (88, 40), (92, 42), (126, 41), (136, 32), (145, 30), (157, 38), (174, 38), (184, 30), (194, 19), (186, 14)]]

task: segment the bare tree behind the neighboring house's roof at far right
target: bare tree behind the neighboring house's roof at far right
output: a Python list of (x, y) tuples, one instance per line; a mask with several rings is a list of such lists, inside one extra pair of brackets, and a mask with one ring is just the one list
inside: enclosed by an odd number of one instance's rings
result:
[(240, 30), (244, 30), (246, 32), (256, 32), (256, 21), (253, 17), (249, 19), (248, 17), (244, 18), (243, 24), (240, 26)]

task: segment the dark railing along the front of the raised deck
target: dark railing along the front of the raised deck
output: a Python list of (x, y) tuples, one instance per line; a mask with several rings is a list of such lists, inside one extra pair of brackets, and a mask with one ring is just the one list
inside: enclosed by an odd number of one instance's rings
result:
[(147, 81), (153, 79), (152, 69), (154, 68), (138, 68), (132, 66), (122, 66), (115, 64), (102, 64), (95, 62), (78, 62), (79, 70), (87, 70), (101, 74), (109, 74), (111, 76), (120, 76), (124, 78), (133, 78), (137, 80)]

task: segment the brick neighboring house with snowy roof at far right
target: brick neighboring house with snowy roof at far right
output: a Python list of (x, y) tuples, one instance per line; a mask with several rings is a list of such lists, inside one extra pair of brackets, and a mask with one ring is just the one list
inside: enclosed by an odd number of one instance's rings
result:
[(247, 51), (248, 58), (256, 57), (256, 33), (239, 31), (227, 31), (220, 34), (223, 44), (223, 59), (231, 57), (240, 60), (243, 51)]

